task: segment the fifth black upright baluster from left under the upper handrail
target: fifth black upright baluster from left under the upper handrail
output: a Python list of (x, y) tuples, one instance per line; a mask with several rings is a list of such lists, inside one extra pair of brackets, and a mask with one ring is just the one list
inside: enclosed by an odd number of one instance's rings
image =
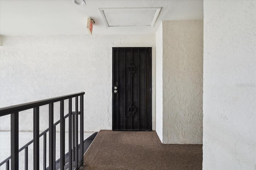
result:
[(68, 169), (72, 170), (72, 98), (68, 99)]

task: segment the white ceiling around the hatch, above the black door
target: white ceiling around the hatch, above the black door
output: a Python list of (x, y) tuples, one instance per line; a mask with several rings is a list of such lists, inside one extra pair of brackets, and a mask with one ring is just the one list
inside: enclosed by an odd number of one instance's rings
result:
[[(151, 34), (162, 20), (203, 20), (202, 0), (85, 0), (85, 6), (77, 6), (73, 0), (0, 0), (0, 35), (87, 35), (87, 17), (95, 21), (93, 33)], [(106, 27), (98, 8), (158, 8), (162, 7), (154, 27)], [(122, 10), (110, 13), (118, 24)], [(145, 23), (150, 21), (145, 17)], [(153, 14), (150, 14), (153, 15)], [(137, 15), (135, 15), (137, 16)], [(138, 18), (128, 18), (137, 25)], [(145, 24), (143, 23), (143, 24)], [(120, 24), (124, 25), (125, 23)]]

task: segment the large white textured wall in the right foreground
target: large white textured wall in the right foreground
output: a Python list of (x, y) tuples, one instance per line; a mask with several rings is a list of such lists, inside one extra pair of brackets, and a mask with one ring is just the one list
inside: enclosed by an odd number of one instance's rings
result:
[(204, 1), (204, 170), (256, 169), (256, 1)]

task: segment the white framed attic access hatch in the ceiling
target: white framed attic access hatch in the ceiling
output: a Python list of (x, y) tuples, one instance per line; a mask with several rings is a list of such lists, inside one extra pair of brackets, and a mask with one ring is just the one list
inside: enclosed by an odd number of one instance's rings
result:
[(99, 8), (106, 27), (154, 27), (161, 8)]

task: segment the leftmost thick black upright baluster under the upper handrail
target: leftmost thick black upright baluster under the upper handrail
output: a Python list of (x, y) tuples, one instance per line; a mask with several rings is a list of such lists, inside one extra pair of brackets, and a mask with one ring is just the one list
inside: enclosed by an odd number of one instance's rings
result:
[(11, 169), (19, 169), (19, 115), (11, 113)]

